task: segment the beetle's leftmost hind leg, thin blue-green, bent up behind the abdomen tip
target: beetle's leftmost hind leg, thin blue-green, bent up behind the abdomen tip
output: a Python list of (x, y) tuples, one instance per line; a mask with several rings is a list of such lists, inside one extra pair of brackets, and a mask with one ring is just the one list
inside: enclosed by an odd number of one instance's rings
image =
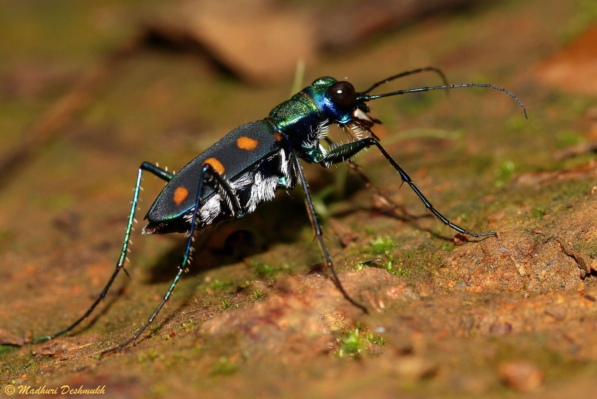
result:
[[(91, 314), (91, 312), (93, 312), (93, 309), (96, 308), (96, 306), (101, 302), (101, 300), (104, 299), (104, 297), (107, 294), (107, 291), (110, 289), (110, 286), (112, 286), (112, 283), (114, 282), (114, 279), (116, 278), (116, 275), (118, 275), (118, 272), (121, 269), (124, 269), (124, 263), (127, 260), (128, 244), (130, 243), (131, 229), (133, 228), (133, 222), (135, 221), (135, 211), (137, 210), (137, 201), (139, 199), (139, 190), (141, 189), (141, 175), (143, 174), (144, 170), (155, 174), (155, 176), (158, 176), (160, 179), (163, 179), (167, 182), (170, 182), (170, 180), (174, 177), (174, 174), (169, 173), (169, 172), (163, 170), (162, 168), (157, 167), (156, 165), (150, 164), (149, 162), (143, 162), (141, 164), (141, 166), (139, 167), (139, 170), (137, 171), (137, 183), (135, 185), (135, 194), (133, 195), (133, 202), (131, 202), (131, 211), (128, 214), (127, 233), (124, 236), (124, 243), (122, 244), (122, 250), (120, 253), (120, 257), (118, 259), (118, 262), (116, 263), (116, 269), (112, 273), (112, 277), (110, 277), (110, 280), (104, 287), (103, 291), (101, 291), (100, 296), (91, 305), (91, 307), (89, 309), (87, 309), (87, 312), (85, 312), (85, 314), (82, 315), (82, 317), (80, 317), (77, 321), (75, 321), (75, 323), (71, 324), (70, 327), (68, 327), (67, 329), (62, 330), (61, 332), (56, 333), (56, 334), (48, 335), (45, 337), (35, 338), (32, 340), (32, 342), (38, 341), (38, 340), (43, 340), (43, 339), (55, 338), (59, 335), (69, 332), (70, 330), (72, 330), (76, 326), (78, 326), (78, 324), (81, 323), (81, 321), (85, 320), (85, 318), (87, 318)], [(127, 271), (125, 270), (125, 273), (126, 272)]]

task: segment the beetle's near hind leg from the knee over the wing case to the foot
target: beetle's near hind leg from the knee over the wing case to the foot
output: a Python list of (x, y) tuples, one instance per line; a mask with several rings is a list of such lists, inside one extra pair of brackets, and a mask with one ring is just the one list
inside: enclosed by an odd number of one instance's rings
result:
[(197, 191), (197, 198), (195, 199), (195, 209), (193, 210), (193, 219), (192, 219), (192, 222), (190, 225), (189, 238), (187, 240), (186, 250), (184, 251), (183, 261), (180, 263), (179, 272), (177, 273), (176, 277), (174, 277), (174, 280), (172, 281), (172, 284), (170, 284), (168, 291), (166, 291), (166, 294), (164, 295), (164, 299), (162, 299), (162, 302), (160, 302), (158, 307), (155, 309), (155, 311), (153, 311), (153, 314), (151, 315), (151, 317), (149, 319), (147, 319), (145, 324), (143, 324), (143, 326), (141, 326), (139, 331), (137, 331), (137, 333), (134, 334), (134, 336), (132, 338), (126, 340), (125, 342), (121, 343), (120, 345), (116, 346), (115, 348), (107, 349), (106, 351), (103, 351), (102, 354), (113, 352), (113, 351), (118, 351), (119, 349), (124, 348), (129, 343), (131, 343), (134, 340), (136, 340), (137, 338), (139, 338), (141, 333), (143, 333), (143, 331), (147, 328), (147, 326), (149, 326), (149, 324), (152, 323), (153, 319), (155, 319), (155, 317), (158, 315), (159, 311), (162, 309), (162, 306), (164, 306), (164, 303), (166, 303), (167, 300), (170, 299), (170, 295), (172, 294), (172, 291), (174, 291), (174, 287), (176, 287), (176, 284), (179, 282), (180, 277), (183, 274), (183, 272), (186, 271), (186, 266), (190, 261), (189, 257), (190, 257), (190, 253), (191, 253), (191, 246), (194, 241), (193, 234), (195, 233), (195, 225), (197, 224), (196, 222), (197, 222), (198, 211), (199, 211), (199, 208), (201, 207), (201, 203), (202, 203), (202, 199), (203, 199), (201, 192), (203, 191), (204, 183), (206, 183), (206, 182), (204, 182), (204, 180), (212, 180), (216, 176), (219, 176), (219, 174), (217, 174), (216, 171), (214, 171), (210, 165), (204, 165), (204, 167), (201, 169), (201, 176), (199, 177), (199, 189)]

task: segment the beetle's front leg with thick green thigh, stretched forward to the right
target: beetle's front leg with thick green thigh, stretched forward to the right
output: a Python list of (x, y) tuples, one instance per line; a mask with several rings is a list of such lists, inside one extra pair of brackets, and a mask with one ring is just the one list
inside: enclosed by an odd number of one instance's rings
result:
[(356, 142), (347, 143), (345, 145), (341, 145), (337, 148), (334, 148), (333, 150), (329, 151), (327, 153), (327, 155), (325, 155), (324, 158), (319, 163), (324, 165), (325, 167), (330, 167), (330, 165), (337, 164), (338, 162), (346, 161), (346, 159), (350, 159), (351, 156), (355, 155), (362, 149), (371, 147), (371, 146), (377, 146), (377, 148), (379, 149), (381, 154), (383, 154), (383, 156), (386, 157), (387, 161), (390, 162), (390, 164), (396, 169), (396, 171), (398, 171), (398, 173), (400, 174), (400, 177), (402, 179), (402, 183), (407, 183), (410, 186), (410, 188), (413, 189), (415, 194), (417, 194), (417, 197), (419, 199), (421, 199), (421, 201), (423, 201), (423, 204), (425, 205), (425, 207), (428, 210), (430, 210), (431, 213), (435, 217), (437, 217), (442, 223), (444, 223), (444, 225), (450, 226), (450, 228), (456, 230), (460, 234), (472, 235), (473, 237), (484, 237), (485, 235), (497, 236), (497, 233), (495, 233), (495, 232), (484, 233), (484, 234), (471, 233), (469, 231), (464, 230), (460, 226), (457, 226), (454, 223), (450, 222), (450, 220), (446, 219), (441, 213), (439, 213), (433, 207), (431, 202), (429, 202), (427, 200), (427, 198), (425, 198), (423, 193), (421, 193), (419, 191), (417, 186), (414, 185), (413, 180), (411, 180), (411, 178), (404, 171), (404, 169), (402, 169), (398, 164), (396, 164), (396, 161), (394, 161), (392, 159), (392, 157), (389, 154), (387, 154), (386, 150), (373, 137), (367, 137), (366, 139), (357, 140)]

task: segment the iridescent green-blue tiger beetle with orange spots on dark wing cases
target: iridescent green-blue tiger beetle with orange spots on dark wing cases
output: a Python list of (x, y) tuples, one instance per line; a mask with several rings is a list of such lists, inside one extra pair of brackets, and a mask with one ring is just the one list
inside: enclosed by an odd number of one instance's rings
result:
[[(381, 84), (425, 70), (438, 73), (444, 84), (398, 90), (384, 94), (370, 94), (374, 88)], [(104, 352), (124, 348), (124, 346), (136, 340), (152, 323), (164, 303), (170, 298), (181, 275), (188, 271), (187, 266), (192, 259), (192, 245), (196, 231), (210, 225), (216, 225), (224, 220), (238, 219), (247, 213), (251, 213), (256, 210), (257, 205), (273, 199), (279, 189), (292, 190), (298, 183), (303, 188), (307, 214), (309, 214), (325, 265), (330, 269), (334, 283), (346, 300), (362, 309), (362, 311), (367, 312), (364, 306), (355, 302), (344, 290), (334, 270), (330, 254), (325, 248), (321, 225), (313, 207), (301, 161), (318, 164), (325, 168), (340, 162), (347, 162), (350, 168), (358, 171), (359, 176), (365, 182), (368, 182), (367, 177), (350, 158), (362, 149), (375, 146), (398, 172), (402, 183), (407, 183), (417, 197), (423, 201), (427, 210), (431, 211), (444, 225), (450, 226), (460, 234), (473, 237), (496, 236), (495, 232), (474, 234), (446, 219), (424, 197), (417, 186), (414, 185), (413, 180), (386, 152), (377, 136), (371, 131), (374, 124), (381, 124), (381, 122), (368, 115), (370, 109), (367, 102), (382, 97), (398, 96), (399, 94), (459, 87), (489, 87), (503, 91), (518, 102), (524, 111), (525, 118), (527, 118), (527, 111), (518, 97), (504, 88), (489, 84), (447, 84), (443, 73), (433, 67), (409, 70), (390, 76), (361, 93), (356, 92), (350, 82), (337, 81), (334, 78), (325, 76), (316, 79), (312, 84), (294, 94), (290, 100), (277, 105), (266, 118), (249, 122), (230, 131), (216, 144), (186, 164), (179, 173), (170, 173), (159, 168), (158, 165), (143, 162), (137, 171), (133, 202), (128, 216), (127, 230), (120, 257), (100, 296), (93, 302), (87, 312), (70, 327), (53, 335), (38, 337), (33, 341), (52, 339), (74, 329), (91, 314), (101, 299), (106, 296), (118, 272), (124, 270), (127, 273), (124, 264), (127, 260), (126, 254), (130, 244), (133, 222), (136, 221), (134, 217), (143, 171), (155, 174), (155, 176), (165, 180), (167, 184), (158, 195), (158, 198), (153, 201), (149, 212), (147, 212), (145, 219), (149, 223), (144, 226), (142, 234), (186, 233), (188, 234), (186, 249), (176, 277), (174, 277), (164, 298), (151, 317), (131, 339)], [(328, 127), (331, 124), (343, 127), (351, 140), (346, 144), (333, 144), (327, 137)], [(330, 148), (324, 148), (319, 143), (321, 139), (326, 140)]]

